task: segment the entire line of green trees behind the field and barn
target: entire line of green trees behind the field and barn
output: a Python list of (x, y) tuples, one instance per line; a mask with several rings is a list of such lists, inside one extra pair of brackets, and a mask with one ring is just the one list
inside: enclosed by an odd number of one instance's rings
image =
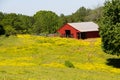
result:
[(101, 17), (102, 7), (80, 7), (71, 15), (58, 16), (52, 11), (38, 11), (33, 16), (0, 12), (0, 34), (51, 34), (69, 22), (95, 21)]

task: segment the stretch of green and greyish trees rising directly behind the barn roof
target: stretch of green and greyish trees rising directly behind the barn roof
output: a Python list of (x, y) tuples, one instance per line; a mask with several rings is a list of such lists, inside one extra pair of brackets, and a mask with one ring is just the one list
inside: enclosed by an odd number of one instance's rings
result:
[(64, 16), (60, 15), (60, 20), (62, 25), (70, 22), (85, 22), (85, 21), (94, 21), (98, 22), (102, 15), (102, 7), (97, 7), (95, 9), (87, 9), (85, 7), (80, 7), (75, 13), (72, 15)]

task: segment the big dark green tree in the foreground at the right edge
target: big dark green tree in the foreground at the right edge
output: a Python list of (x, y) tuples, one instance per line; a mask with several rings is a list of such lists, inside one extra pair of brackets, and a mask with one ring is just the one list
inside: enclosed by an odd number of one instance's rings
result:
[(106, 1), (100, 19), (100, 35), (103, 50), (120, 55), (120, 0)]

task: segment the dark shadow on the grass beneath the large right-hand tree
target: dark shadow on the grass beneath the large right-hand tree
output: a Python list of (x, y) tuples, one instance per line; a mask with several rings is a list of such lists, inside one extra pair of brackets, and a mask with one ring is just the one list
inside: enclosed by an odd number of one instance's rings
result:
[(115, 68), (120, 68), (120, 59), (118, 58), (109, 58), (107, 59), (107, 63), (108, 66), (113, 66)]

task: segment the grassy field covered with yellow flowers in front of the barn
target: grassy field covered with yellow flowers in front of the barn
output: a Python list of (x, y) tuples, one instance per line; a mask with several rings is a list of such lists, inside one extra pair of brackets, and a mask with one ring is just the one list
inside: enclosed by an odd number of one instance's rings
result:
[(99, 38), (1, 36), (0, 80), (120, 80), (119, 57), (100, 45)]

